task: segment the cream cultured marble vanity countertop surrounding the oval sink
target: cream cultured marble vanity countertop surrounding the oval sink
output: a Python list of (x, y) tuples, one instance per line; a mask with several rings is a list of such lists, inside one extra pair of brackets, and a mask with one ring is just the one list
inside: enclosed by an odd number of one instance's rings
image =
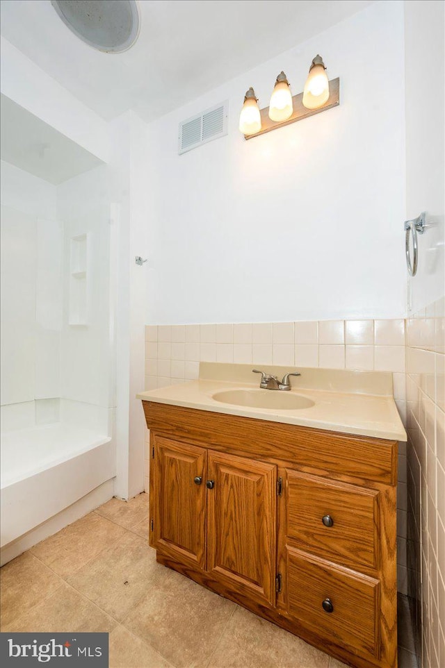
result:
[[(278, 378), (289, 367), (259, 365), (261, 370)], [(137, 399), (184, 406), (197, 410), (240, 415), (254, 419), (297, 424), (327, 431), (406, 441), (407, 436), (392, 394), (392, 376), (382, 371), (346, 371), (343, 369), (299, 369), (292, 377), (290, 392), (314, 401), (310, 408), (277, 410), (252, 408), (213, 399), (225, 390), (252, 390), (259, 387), (259, 376), (252, 365), (230, 365), (201, 362), (200, 378), (158, 390), (140, 392)], [(278, 390), (261, 390), (278, 392)]]

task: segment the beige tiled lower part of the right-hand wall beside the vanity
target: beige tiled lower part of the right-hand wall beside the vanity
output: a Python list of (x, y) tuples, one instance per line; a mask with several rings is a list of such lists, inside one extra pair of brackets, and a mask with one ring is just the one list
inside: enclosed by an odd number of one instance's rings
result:
[[(407, 320), (408, 593), (425, 667), (445, 666), (445, 299)], [(421, 624), (422, 621), (422, 624)]]

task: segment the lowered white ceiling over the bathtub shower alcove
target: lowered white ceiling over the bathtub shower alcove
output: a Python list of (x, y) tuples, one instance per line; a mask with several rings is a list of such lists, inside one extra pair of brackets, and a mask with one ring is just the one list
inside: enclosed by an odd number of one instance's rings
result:
[(102, 161), (76, 142), (1, 95), (1, 160), (54, 185)]

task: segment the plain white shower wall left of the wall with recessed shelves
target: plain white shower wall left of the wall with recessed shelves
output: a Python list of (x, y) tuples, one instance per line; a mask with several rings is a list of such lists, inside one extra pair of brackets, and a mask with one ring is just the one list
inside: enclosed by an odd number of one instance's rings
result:
[(10, 405), (60, 393), (62, 235), (53, 185), (2, 161), (1, 199), (1, 403)]

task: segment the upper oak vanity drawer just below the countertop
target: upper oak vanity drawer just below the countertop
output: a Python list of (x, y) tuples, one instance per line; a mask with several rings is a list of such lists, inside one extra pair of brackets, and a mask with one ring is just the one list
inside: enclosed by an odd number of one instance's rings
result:
[(378, 568), (380, 492), (287, 471), (286, 534), (298, 547), (352, 567)]

